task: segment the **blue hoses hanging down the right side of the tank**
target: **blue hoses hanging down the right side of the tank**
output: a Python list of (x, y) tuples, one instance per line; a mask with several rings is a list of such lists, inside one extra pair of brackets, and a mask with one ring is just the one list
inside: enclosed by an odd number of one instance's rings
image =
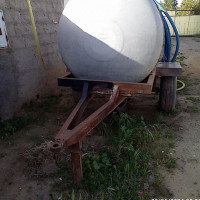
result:
[(179, 46), (180, 46), (178, 30), (177, 30), (172, 18), (167, 13), (167, 11), (156, 0), (153, 0), (153, 1), (155, 2), (155, 4), (158, 6), (158, 9), (160, 10), (161, 17), (162, 17), (163, 24), (164, 24), (164, 28), (165, 28), (165, 51), (164, 51), (164, 56), (162, 58), (162, 62), (169, 62), (170, 61), (170, 55), (171, 55), (171, 35), (170, 35), (169, 26), (167, 24), (167, 21), (166, 21), (164, 15), (163, 15), (163, 13), (165, 14), (167, 19), (169, 20), (169, 22), (170, 22), (170, 24), (171, 24), (171, 26), (172, 26), (172, 28), (175, 32), (175, 35), (176, 35), (176, 50), (175, 50), (174, 56), (171, 60), (171, 62), (175, 62), (176, 57), (178, 55)]

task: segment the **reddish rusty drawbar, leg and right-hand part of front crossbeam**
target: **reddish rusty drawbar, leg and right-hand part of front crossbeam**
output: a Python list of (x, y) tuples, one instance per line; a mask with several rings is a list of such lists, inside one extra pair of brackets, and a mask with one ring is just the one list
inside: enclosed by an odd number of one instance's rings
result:
[[(94, 129), (103, 119), (105, 119), (116, 107), (127, 97), (136, 93), (151, 94), (156, 70), (154, 69), (148, 76), (146, 83), (123, 83), (113, 82), (113, 89), (93, 87), (89, 91), (89, 80), (83, 86), (82, 97), (76, 105), (67, 121), (55, 137), (55, 142), (51, 146), (53, 152), (59, 152), (64, 146), (68, 146), (71, 152), (73, 166), (73, 181), (79, 184), (83, 178), (81, 140), (92, 129)], [(110, 95), (110, 99), (93, 114), (78, 124), (91, 94), (100, 93)]]

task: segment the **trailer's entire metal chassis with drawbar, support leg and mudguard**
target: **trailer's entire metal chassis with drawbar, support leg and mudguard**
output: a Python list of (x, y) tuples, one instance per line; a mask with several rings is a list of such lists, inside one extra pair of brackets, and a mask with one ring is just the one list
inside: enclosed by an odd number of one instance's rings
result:
[[(115, 81), (101, 81), (74, 78), (71, 74), (58, 79), (58, 85), (71, 87), (73, 90), (82, 91), (82, 97), (78, 104), (58, 132), (51, 150), (59, 152), (63, 147), (68, 147), (71, 152), (73, 167), (73, 181), (80, 184), (83, 178), (81, 140), (92, 129), (94, 129), (103, 119), (105, 119), (115, 108), (117, 108), (126, 98), (134, 94), (151, 94), (156, 74), (174, 77), (180, 75), (180, 66), (160, 65), (149, 74), (141, 83), (127, 83)], [(166, 69), (169, 68), (169, 69)], [(177, 70), (177, 68), (179, 68)], [(179, 73), (174, 72), (179, 71)], [(80, 122), (89, 100), (94, 94), (109, 95), (109, 100), (93, 112), (90, 116)]]

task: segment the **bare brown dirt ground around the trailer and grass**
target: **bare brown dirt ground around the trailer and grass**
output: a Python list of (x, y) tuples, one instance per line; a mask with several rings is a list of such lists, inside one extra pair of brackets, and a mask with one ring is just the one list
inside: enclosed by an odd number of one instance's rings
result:
[[(186, 88), (178, 94), (176, 116), (173, 118), (165, 116), (167, 123), (171, 124), (178, 134), (175, 148), (172, 149), (172, 154), (177, 159), (177, 167), (172, 171), (162, 168), (160, 171), (166, 187), (174, 198), (198, 198), (200, 197), (200, 39), (181, 38), (179, 59), (184, 70), (181, 80), (186, 83)], [(38, 171), (33, 165), (29, 165), (26, 158), (30, 156), (30, 149), (45, 141), (53, 140), (75, 105), (70, 90), (62, 89), (61, 93), (62, 97), (53, 110), (41, 105), (38, 100), (30, 102), (33, 109), (29, 112), (38, 119), (9, 139), (0, 141), (0, 200), (52, 200), (51, 185), (59, 179), (46, 176), (43, 178), (41, 174), (48, 175), (57, 170), (54, 159), (48, 159), (49, 155), (46, 155), (47, 159), (44, 160), (44, 155), (41, 155), (42, 166)], [(136, 96), (128, 103), (127, 108), (126, 111), (130, 114), (140, 113), (147, 119), (151, 118), (158, 113), (158, 96)], [(89, 109), (93, 110), (92, 107)], [(87, 145), (97, 145), (94, 143), (95, 139)], [(32, 150), (40, 151), (37, 148)]]

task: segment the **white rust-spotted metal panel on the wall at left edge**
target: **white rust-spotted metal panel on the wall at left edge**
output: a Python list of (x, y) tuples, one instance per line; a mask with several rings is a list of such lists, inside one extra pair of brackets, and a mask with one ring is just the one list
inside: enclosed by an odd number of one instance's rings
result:
[(6, 25), (3, 12), (0, 10), (0, 48), (8, 47)]

